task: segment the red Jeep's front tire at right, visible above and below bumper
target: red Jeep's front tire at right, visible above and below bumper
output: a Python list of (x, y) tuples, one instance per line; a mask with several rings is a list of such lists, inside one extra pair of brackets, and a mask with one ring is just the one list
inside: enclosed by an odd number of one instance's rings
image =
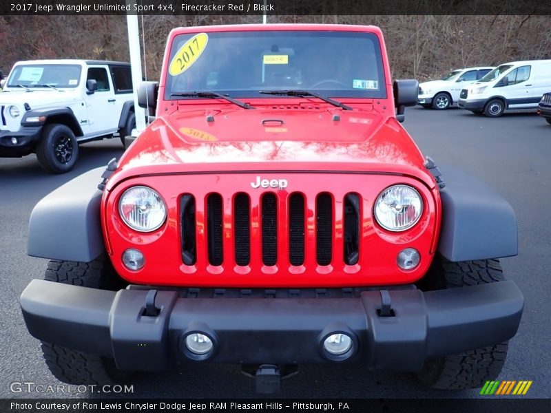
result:
[[(435, 257), (423, 282), (426, 290), (460, 288), (499, 282), (503, 271), (498, 260), (449, 262)], [(494, 380), (501, 372), (507, 356), (508, 342), (497, 343), (461, 354), (428, 359), (417, 377), (425, 385), (436, 389), (463, 390), (479, 388), (487, 380)]]

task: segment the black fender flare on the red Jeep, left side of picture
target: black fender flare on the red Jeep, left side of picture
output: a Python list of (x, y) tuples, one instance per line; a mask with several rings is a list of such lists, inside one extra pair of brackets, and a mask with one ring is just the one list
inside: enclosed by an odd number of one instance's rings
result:
[(103, 171), (87, 171), (39, 201), (30, 215), (28, 255), (90, 262), (105, 252), (98, 190)]

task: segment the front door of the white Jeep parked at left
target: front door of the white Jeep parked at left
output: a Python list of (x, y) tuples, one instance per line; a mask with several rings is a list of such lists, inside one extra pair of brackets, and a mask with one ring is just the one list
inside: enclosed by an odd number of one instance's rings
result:
[(88, 94), (86, 109), (88, 116), (86, 136), (101, 136), (113, 134), (118, 129), (118, 118), (121, 111), (116, 109), (116, 98), (107, 73), (107, 66), (90, 65), (87, 70), (86, 81), (94, 79), (98, 89)]

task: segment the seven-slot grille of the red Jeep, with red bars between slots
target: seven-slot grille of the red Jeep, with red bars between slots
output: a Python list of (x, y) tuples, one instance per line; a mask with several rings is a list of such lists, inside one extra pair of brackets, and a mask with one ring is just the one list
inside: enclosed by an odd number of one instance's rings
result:
[[(280, 264), (286, 268), (302, 266), (306, 263), (306, 246), (316, 248), (315, 262), (321, 266), (337, 264), (334, 262), (333, 247), (339, 245), (342, 251), (342, 264), (355, 265), (360, 260), (360, 244), (362, 240), (362, 196), (357, 193), (347, 193), (344, 198), (335, 200), (328, 192), (321, 192), (315, 196), (315, 211), (309, 218), (306, 209), (307, 197), (304, 193), (291, 193), (288, 197), (284, 192), (267, 192), (260, 195), (260, 202), (254, 203), (247, 193), (222, 195), (211, 193), (207, 198), (194, 198), (194, 195), (185, 193), (180, 198), (180, 235), (182, 237), (182, 260), (185, 265), (210, 264), (220, 266), (225, 263), (228, 255), (235, 258), (234, 262), (227, 262), (228, 266), (251, 265), (252, 242), (260, 243), (262, 264), (274, 266)], [(205, 204), (200, 203), (205, 199)], [(225, 230), (225, 199), (231, 201), (231, 233)], [(287, 202), (283, 201), (287, 199)], [(337, 208), (337, 209), (335, 209)], [(342, 209), (342, 210), (341, 210)], [(253, 213), (258, 211), (258, 222)], [(335, 238), (335, 211), (342, 212), (342, 244)], [(227, 213), (227, 211), (226, 211)], [(204, 215), (203, 215), (204, 214)], [(205, 233), (199, 231), (198, 219), (205, 217)], [(306, 231), (308, 219), (315, 220), (315, 229), (309, 235)], [(287, 245), (280, 245), (281, 235), (278, 229), (278, 220), (288, 220)], [(340, 219), (340, 218), (339, 218)], [(251, 231), (258, 224), (260, 240), (251, 240)], [(207, 248), (207, 262), (199, 262), (198, 236), (204, 237)], [(225, 241), (230, 236), (231, 244)], [(309, 237), (313, 237), (311, 240)], [(311, 242), (311, 244), (309, 244)], [(255, 244), (255, 246), (258, 244)], [(224, 248), (233, 248), (233, 254), (224, 253)], [(278, 262), (278, 249), (284, 248), (289, 254), (289, 262)], [(259, 248), (259, 249), (260, 249)], [(284, 254), (287, 255), (287, 254)], [(340, 255), (340, 254), (339, 254)], [(228, 267), (230, 268), (230, 267)]]

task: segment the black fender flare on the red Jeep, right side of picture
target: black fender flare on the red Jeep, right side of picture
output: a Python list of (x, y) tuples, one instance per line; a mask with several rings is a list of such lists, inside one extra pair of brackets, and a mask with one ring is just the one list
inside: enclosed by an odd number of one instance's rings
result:
[(518, 253), (517, 218), (488, 185), (455, 167), (438, 165), (442, 221), (438, 252), (454, 262), (512, 257)]

